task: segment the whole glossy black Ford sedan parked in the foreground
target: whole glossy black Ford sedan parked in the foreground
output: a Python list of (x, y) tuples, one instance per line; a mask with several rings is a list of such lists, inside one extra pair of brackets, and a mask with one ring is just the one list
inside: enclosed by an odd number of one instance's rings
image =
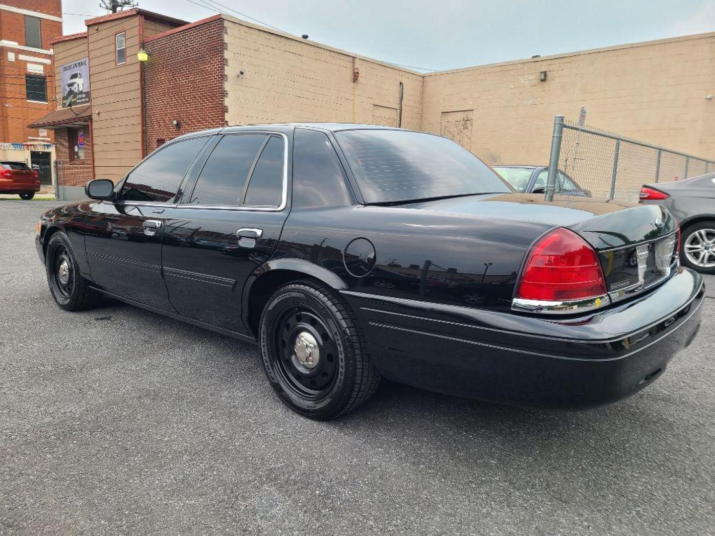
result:
[(666, 209), (517, 194), (448, 139), (352, 124), (172, 140), (41, 217), (63, 309), (102, 295), (260, 344), (293, 410), (330, 419), (380, 377), (588, 407), (659, 377), (700, 325)]

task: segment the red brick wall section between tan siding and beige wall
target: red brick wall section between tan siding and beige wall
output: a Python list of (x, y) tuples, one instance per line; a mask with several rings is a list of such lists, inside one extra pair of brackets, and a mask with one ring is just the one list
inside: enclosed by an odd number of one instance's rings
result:
[[(225, 44), (221, 19), (144, 44), (147, 154), (181, 134), (225, 126)], [(177, 129), (172, 121), (181, 121)]]

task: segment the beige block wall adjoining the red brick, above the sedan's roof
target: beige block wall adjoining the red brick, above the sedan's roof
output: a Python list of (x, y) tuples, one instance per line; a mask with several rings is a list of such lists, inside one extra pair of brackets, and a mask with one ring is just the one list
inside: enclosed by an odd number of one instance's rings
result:
[[(225, 18), (229, 124), (346, 121), (420, 129), (423, 76)], [(360, 76), (353, 83), (353, 69)], [(239, 76), (240, 71), (243, 76)]]

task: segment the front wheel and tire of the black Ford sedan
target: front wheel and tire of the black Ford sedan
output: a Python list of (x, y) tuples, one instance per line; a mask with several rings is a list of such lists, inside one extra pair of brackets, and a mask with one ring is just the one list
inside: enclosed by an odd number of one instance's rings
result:
[(69, 239), (56, 232), (47, 244), (45, 269), (49, 291), (54, 301), (66, 311), (92, 309), (102, 302), (102, 294), (89, 287), (82, 277)]

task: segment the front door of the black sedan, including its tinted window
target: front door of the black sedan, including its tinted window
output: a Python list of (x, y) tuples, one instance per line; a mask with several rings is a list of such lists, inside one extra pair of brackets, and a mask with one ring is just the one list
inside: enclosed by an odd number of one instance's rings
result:
[(162, 277), (162, 229), (181, 184), (209, 137), (172, 142), (132, 169), (117, 199), (87, 214), (85, 250), (92, 281), (106, 292), (173, 311)]

